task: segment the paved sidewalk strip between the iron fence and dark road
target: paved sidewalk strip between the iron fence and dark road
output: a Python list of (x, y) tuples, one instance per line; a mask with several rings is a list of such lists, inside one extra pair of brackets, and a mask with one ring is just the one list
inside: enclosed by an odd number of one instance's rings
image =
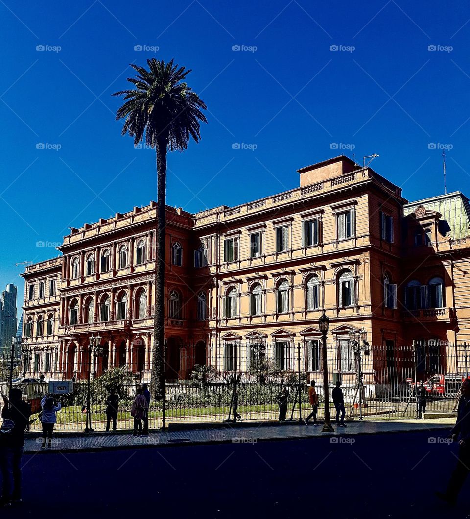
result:
[[(455, 418), (435, 418), (429, 420), (380, 420), (350, 421), (348, 427), (335, 427), (334, 432), (324, 433), (322, 426), (298, 424), (298, 422), (273, 422), (266, 426), (265, 422), (243, 421), (238, 424), (219, 424), (216, 427), (194, 429), (188, 427), (170, 427), (165, 431), (151, 431), (148, 436), (131, 438), (130, 431), (105, 433), (97, 432), (84, 435), (56, 433), (50, 449), (40, 450), (38, 434), (26, 436), (24, 453), (47, 454), (50, 452), (93, 451), (99, 449), (129, 449), (144, 447), (170, 447), (173, 445), (205, 445), (211, 443), (257, 443), (266, 440), (292, 440), (299, 438), (315, 438), (316, 436), (345, 436), (357, 434), (383, 434), (413, 431), (435, 431), (450, 429)], [(181, 430), (182, 429), (182, 430)]]

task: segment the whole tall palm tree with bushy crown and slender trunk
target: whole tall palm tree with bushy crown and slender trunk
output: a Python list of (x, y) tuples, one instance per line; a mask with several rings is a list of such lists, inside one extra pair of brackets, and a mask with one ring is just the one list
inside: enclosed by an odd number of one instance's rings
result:
[(123, 95), (124, 104), (116, 113), (116, 120), (125, 119), (122, 135), (129, 133), (134, 145), (145, 142), (156, 152), (157, 179), (157, 254), (155, 267), (155, 311), (152, 350), (151, 388), (155, 399), (165, 395), (164, 318), (165, 318), (165, 207), (166, 154), (183, 151), (192, 137), (201, 139), (200, 121), (207, 122), (202, 110), (205, 103), (184, 82), (191, 70), (155, 59), (147, 60), (149, 70), (131, 64), (136, 77), (127, 78), (132, 90)]

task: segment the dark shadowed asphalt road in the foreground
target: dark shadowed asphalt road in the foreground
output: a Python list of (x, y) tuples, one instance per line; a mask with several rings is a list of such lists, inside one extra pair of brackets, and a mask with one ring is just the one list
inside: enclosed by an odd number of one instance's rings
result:
[(453, 510), (433, 496), (457, 462), (457, 445), (444, 440), (443, 431), (426, 431), (30, 454), (23, 457), (24, 502), (1, 514), (470, 517), (470, 479)]

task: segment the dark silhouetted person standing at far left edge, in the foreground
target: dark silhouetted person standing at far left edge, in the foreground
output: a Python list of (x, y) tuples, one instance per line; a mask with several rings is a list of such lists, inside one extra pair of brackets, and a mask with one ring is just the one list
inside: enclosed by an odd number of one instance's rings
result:
[(31, 405), (22, 400), (20, 388), (12, 388), (8, 398), (2, 393), (2, 430), (0, 430), (0, 467), (3, 493), (0, 503), (9, 506), (21, 502), (21, 457), (24, 431), (30, 424)]

